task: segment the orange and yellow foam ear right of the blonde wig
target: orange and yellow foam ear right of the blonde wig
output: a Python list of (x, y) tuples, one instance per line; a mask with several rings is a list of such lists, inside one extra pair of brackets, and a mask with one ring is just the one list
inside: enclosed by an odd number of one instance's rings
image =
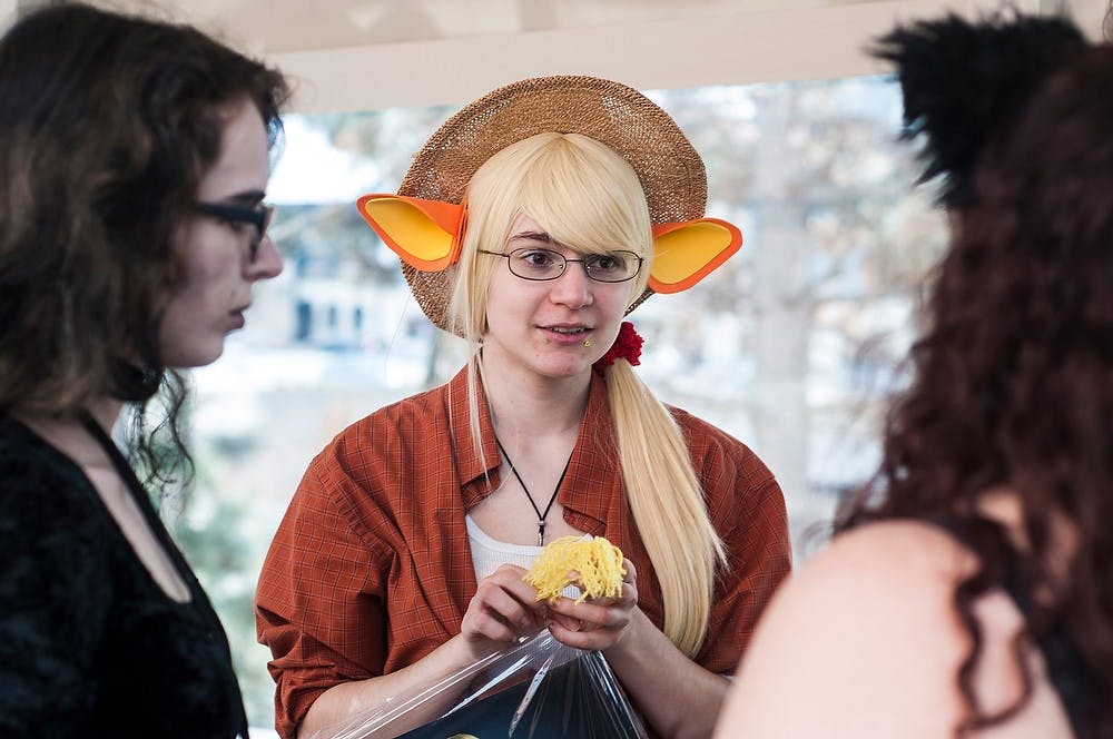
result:
[(742, 247), (742, 231), (718, 218), (653, 226), (654, 293), (680, 293), (703, 279)]

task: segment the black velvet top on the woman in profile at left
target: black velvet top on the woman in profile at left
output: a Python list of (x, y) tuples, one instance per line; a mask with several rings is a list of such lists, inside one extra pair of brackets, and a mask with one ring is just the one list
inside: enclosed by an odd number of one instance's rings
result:
[(69, 457), (0, 416), (0, 736), (246, 737), (216, 613), (116, 445), (90, 433), (190, 600), (154, 581)]

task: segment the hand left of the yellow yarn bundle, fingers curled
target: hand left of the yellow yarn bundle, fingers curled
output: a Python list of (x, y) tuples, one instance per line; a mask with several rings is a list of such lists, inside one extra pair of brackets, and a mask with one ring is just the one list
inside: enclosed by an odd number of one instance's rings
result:
[(536, 602), (538, 591), (522, 580), (524, 574), (520, 566), (503, 564), (480, 580), (460, 624), (461, 637), (476, 657), (546, 625), (545, 604)]

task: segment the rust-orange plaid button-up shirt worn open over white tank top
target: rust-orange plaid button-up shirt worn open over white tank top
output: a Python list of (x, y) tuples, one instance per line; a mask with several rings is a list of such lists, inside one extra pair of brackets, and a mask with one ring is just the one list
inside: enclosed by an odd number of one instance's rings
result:
[[(328, 688), (393, 672), (460, 632), (476, 588), (464, 514), (499, 485), (499, 449), (482, 398), (480, 410), (485, 464), (471, 441), (465, 371), (356, 422), (309, 464), (256, 593), (283, 737), (294, 736)], [(728, 673), (791, 566), (785, 502), (746, 445), (672, 412), (729, 556), (697, 662)], [(605, 535), (630, 558), (639, 607), (661, 628), (660, 589), (617, 460), (607, 387), (593, 376), (558, 500), (572, 526)]]

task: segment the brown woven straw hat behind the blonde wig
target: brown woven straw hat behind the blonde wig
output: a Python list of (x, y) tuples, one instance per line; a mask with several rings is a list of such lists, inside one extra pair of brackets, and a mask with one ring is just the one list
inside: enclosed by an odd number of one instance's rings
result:
[[(638, 173), (653, 224), (702, 217), (703, 161), (676, 121), (638, 90), (595, 77), (539, 77), (483, 96), (433, 134), (398, 195), (459, 204), (483, 162), (549, 131), (589, 136), (622, 155)], [(452, 272), (420, 272), (403, 263), (402, 273), (430, 321), (451, 331), (445, 313)], [(628, 313), (652, 294), (647, 288)]]

